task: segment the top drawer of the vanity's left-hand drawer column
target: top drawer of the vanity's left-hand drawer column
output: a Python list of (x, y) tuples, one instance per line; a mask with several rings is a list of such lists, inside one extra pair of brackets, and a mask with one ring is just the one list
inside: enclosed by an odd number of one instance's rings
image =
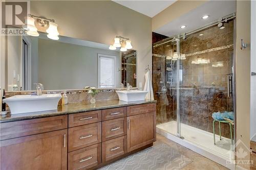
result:
[(101, 121), (101, 110), (69, 115), (69, 127), (87, 125)]

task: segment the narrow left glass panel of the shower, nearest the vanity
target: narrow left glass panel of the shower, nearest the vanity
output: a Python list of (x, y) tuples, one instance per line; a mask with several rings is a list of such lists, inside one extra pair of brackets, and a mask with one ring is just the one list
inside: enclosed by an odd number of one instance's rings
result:
[(177, 135), (177, 43), (166, 39), (153, 46), (153, 89), (157, 100), (157, 128)]

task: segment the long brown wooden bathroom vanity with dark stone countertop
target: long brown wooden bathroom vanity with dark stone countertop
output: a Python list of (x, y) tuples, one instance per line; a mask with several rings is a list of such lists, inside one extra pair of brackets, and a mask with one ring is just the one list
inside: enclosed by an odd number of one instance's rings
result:
[(74, 103), (0, 120), (1, 169), (96, 169), (156, 141), (155, 101)]

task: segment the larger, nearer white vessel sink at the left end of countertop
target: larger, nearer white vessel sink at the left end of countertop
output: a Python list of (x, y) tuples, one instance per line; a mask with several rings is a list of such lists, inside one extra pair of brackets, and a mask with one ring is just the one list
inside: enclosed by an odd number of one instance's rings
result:
[(61, 94), (14, 95), (4, 99), (11, 114), (56, 110)]

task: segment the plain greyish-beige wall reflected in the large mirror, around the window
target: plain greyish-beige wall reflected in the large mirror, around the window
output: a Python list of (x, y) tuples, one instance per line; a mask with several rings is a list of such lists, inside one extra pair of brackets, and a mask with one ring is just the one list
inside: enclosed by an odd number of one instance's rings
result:
[(97, 87), (98, 54), (116, 56), (116, 82), (120, 85), (121, 72), (118, 70), (121, 67), (121, 55), (119, 52), (38, 39), (38, 82), (44, 84), (47, 90)]

